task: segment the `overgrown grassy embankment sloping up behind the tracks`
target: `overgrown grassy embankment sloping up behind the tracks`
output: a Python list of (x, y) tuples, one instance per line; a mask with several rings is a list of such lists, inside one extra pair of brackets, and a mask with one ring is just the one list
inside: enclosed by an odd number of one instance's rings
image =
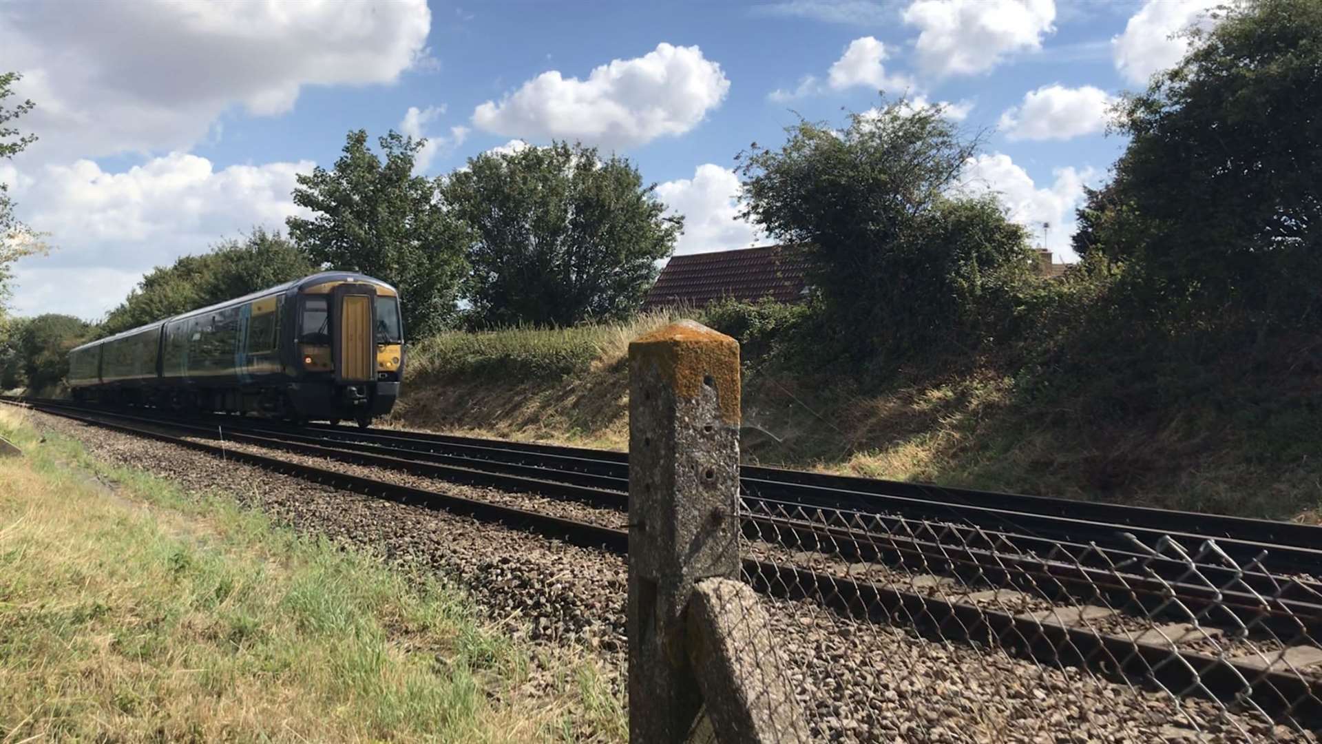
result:
[[(625, 449), (628, 340), (666, 320), (427, 339), (394, 422)], [(1322, 511), (1322, 375), (1290, 352), (1317, 339), (1203, 352), (1210, 364), (1105, 344), (1088, 359), (1059, 351), (1052, 371), (969, 355), (865, 381), (805, 352), (767, 359), (764, 335), (705, 320), (746, 342), (747, 461), (1277, 519)]]

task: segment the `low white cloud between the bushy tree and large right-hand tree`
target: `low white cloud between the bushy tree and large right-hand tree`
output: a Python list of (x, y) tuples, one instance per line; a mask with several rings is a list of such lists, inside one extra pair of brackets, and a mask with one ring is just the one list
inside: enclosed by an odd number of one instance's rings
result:
[(1034, 244), (1042, 242), (1042, 224), (1050, 222), (1046, 246), (1056, 258), (1073, 261), (1077, 256), (1069, 248), (1069, 237), (1075, 232), (1075, 209), (1083, 204), (1084, 184), (1097, 173), (1092, 168), (1056, 168), (1051, 175), (1055, 177), (1051, 185), (1039, 188), (1009, 155), (978, 155), (969, 159), (960, 191), (998, 193), (1010, 220), (1027, 228)]

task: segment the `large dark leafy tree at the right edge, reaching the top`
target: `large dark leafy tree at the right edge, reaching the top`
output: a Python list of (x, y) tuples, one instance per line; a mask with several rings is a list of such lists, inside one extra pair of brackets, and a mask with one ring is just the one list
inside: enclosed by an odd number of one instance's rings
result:
[(1261, 322), (1322, 311), (1322, 4), (1253, 0), (1118, 107), (1130, 136), (1089, 195), (1085, 241), (1137, 265), (1140, 302), (1229, 303)]

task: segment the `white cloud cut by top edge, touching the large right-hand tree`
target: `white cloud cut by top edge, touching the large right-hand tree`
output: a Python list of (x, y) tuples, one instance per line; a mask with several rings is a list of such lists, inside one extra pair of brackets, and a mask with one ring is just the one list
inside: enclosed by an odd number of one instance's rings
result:
[(1132, 83), (1146, 85), (1153, 73), (1175, 66), (1188, 40), (1174, 34), (1191, 25), (1210, 28), (1206, 12), (1224, 0), (1147, 0), (1110, 40), (1116, 70)]

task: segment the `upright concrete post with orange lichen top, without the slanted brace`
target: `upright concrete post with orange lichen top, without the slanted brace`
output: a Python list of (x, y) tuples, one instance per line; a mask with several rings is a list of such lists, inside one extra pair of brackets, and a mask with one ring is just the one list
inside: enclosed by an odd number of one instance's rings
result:
[(629, 344), (629, 739), (682, 741), (702, 706), (694, 584), (739, 576), (739, 344), (681, 320)]

